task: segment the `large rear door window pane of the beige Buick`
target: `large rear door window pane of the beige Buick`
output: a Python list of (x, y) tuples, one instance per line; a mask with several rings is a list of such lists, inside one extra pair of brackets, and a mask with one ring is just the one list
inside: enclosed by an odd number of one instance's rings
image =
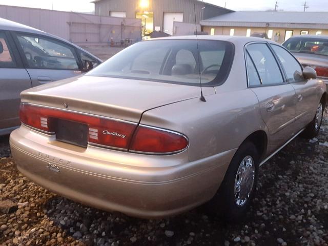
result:
[(247, 51), (254, 61), (262, 85), (283, 83), (278, 63), (267, 44), (257, 43), (247, 46)]

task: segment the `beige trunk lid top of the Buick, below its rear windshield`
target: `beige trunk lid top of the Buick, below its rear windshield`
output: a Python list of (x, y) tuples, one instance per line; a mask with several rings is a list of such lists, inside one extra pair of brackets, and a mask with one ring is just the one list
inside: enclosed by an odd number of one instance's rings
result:
[[(215, 94), (213, 87), (204, 95)], [(22, 92), (23, 102), (138, 122), (143, 112), (200, 97), (200, 87), (153, 81), (79, 76)]]

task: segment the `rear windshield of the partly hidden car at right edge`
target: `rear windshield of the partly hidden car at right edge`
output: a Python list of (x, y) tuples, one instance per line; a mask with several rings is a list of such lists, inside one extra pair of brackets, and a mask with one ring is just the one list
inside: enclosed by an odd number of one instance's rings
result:
[(295, 37), (288, 39), (283, 46), (291, 52), (328, 56), (328, 39)]

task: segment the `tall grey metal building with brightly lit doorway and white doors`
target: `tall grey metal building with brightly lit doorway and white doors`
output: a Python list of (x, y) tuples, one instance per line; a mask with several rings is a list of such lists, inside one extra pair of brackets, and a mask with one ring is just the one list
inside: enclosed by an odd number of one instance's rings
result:
[[(197, 24), (201, 19), (233, 12), (197, 0), (96, 0), (93, 3), (95, 15), (141, 19), (144, 35), (153, 31), (175, 35), (178, 30), (173, 27), (174, 22), (195, 24), (194, 4)], [(195, 26), (184, 25), (181, 29), (185, 33), (179, 30), (178, 34), (191, 34), (186, 32), (188, 28), (195, 31)]]

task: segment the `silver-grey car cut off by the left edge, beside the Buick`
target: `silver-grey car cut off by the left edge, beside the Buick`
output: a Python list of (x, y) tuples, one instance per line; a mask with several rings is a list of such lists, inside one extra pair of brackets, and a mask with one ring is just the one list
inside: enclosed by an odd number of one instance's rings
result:
[(20, 92), (80, 75), (101, 62), (60, 37), (0, 18), (0, 136), (20, 125)]

